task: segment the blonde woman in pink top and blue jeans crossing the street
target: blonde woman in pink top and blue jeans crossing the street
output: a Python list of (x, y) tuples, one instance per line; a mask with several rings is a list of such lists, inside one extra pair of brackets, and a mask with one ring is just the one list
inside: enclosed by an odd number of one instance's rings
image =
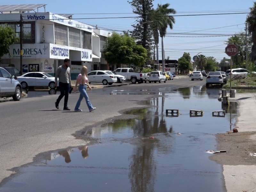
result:
[(75, 111), (76, 112), (82, 112), (82, 110), (79, 108), (80, 107), (80, 104), (81, 104), (81, 101), (83, 100), (83, 98), (85, 99), (85, 102), (86, 102), (86, 105), (89, 109), (90, 112), (92, 112), (93, 110), (96, 109), (96, 107), (93, 107), (90, 100), (89, 100), (89, 97), (86, 93), (86, 87), (88, 85), (89, 89), (91, 90), (91, 86), (89, 85), (88, 83), (88, 78), (87, 78), (87, 67), (83, 66), (82, 69), (81, 69), (81, 73), (77, 76), (77, 79), (76, 79), (76, 86), (74, 88), (74, 92), (76, 92), (76, 88), (77, 88), (77, 85), (79, 83), (79, 87), (78, 87), (78, 91), (80, 92), (80, 96), (79, 96), (79, 99), (78, 101), (76, 102), (76, 107), (75, 107)]

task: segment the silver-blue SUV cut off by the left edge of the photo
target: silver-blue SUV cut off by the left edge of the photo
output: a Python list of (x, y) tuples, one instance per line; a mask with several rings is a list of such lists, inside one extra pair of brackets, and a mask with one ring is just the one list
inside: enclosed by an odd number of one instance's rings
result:
[(0, 67), (0, 97), (12, 97), (19, 101), (21, 97), (21, 85), (8, 71)]

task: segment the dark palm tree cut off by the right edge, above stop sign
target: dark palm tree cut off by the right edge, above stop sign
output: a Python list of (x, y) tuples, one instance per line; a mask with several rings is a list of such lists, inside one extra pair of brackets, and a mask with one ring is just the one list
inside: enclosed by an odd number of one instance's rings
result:
[(256, 60), (256, 2), (253, 2), (253, 7), (250, 7), (251, 12), (248, 14), (246, 22), (248, 23), (248, 32), (252, 34), (252, 52), (250, 58), (253, 63)]

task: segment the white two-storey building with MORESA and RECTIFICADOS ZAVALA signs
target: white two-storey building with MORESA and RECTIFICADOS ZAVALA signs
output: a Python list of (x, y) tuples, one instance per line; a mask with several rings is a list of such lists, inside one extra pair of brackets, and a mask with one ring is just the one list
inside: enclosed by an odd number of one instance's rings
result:
[[(72, 19), (71, 14), (36, 12), (45, 4), (0, 5), (0, 25), (9, 25), (20, 37), (20, 15), (23, 18), (22, 73), (42, 71), (54, 75), (58, 66), (69, 58), (71, 78), (76, 79), (83, 65), (88, 71), (108, 69), (101, 58), (101, 47), (110, 33)], [(101, 44), (100, 44), (101, 43)], [(1, 66), (14, 65), (20, 69), (20, 42), (10, 46)]]

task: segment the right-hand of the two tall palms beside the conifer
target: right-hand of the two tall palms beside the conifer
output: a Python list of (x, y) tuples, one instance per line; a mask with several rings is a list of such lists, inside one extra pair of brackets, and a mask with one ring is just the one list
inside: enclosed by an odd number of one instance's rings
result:
[[(161, 42), (162, 42), (162, 60), (164, 60), (164, 36), (166, 34), (166, 30), (168, 26), (170, 29), (173, 28), (173, 24), (175, 23), (175, 19), (170, 14), (176, 14), (175, 9), (168, 8), (170, 6), (169, 3), (166, 4), (157, 4), (157, 8), (155, 10), (155, 18), (154, 22), (156, 22), (157, 30), (159, 31)], [(153, 23), (154, 23), (153, 22)], [(155, 37), (155, 35), (154, 35)], [(164, 66), (163, 66), (164, 71)]]

